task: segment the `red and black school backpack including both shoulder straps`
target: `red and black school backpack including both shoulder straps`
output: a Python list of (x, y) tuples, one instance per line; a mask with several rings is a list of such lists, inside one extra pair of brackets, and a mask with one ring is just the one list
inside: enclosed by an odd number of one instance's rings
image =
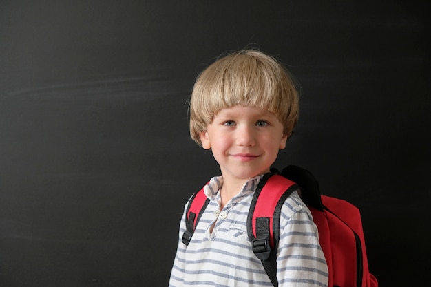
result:
[[(285, 167), (281, 173), (271, 170), (262, 177), (247, 217), (253, 252), (261, 260), (273, 286), (278, 286), (275, 252), (280, 237), (281, 207), (298, 187), (319, 231), (319, 243), (328, 264), (328, 286), (377, 287), (377, 279), (368, 270), (359, 209), (345, 200), (320, 195), (313, 174), (297, 166)], [(203, 188), (189, 200), (186, 231), (182, 236), (184, 244), (189, 244), (207, 204), (209, 199)]]

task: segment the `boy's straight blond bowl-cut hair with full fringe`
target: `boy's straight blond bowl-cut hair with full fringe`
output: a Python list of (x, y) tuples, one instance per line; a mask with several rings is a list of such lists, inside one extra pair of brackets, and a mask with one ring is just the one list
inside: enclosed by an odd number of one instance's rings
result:
[(293, 77), (272, 56), (258, 50), (228, 54), (196, 79), (189, 106), (191, 138), (202, 145), (199, 134), (213, 117), (235, 105), (271, 111), (289, 137), (299, 116), (299, 93)]

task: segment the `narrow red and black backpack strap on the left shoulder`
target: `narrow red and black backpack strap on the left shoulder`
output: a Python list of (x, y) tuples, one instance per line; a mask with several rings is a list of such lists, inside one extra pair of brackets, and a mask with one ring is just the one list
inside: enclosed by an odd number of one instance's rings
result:
[(209, 198), (205, 195), (203, 187), (200, 191), (191, 196), (186, 209), (186, 231), (182, 235), (182, 243), (189, 245), (191, 237), (195, 232), (196, 225), (198, 225), (200, 217), (205, 209), (207, 209), (208, 204)]

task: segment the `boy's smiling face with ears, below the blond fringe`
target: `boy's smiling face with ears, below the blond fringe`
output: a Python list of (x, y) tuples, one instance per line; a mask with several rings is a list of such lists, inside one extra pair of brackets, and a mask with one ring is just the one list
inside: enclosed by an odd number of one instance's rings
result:
[(200, 140), (212, 150), (225, 180), (246, 180), (269, 171), (287, 136), (270, 111), (234, 106), (219, 111)]

